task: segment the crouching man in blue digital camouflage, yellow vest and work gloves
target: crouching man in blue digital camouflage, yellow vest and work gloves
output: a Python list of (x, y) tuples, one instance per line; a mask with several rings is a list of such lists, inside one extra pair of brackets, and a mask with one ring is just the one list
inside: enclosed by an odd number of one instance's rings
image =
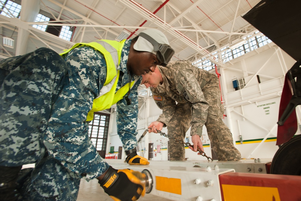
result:
[[(168, 44), (148, 29), (132, 40), (79, 43), (61, 55), (40, 48), (2, 60), (2, 200), (76, 200), (81, 178), (97, 178), (114, 200), (143, 196), (145, 175), (109, 166), (88, 137), (87, 120), (116, 103), (126, 161), (148, 165), (136, 153), (137, 87), (141, 74), (168, 63)], [(29, 163), (36, 163), (33, 170), (20, 171)]]

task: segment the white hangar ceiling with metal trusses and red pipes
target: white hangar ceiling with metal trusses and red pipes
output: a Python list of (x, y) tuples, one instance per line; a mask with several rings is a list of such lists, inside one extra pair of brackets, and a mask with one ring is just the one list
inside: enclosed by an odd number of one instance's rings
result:
[[(146, 28), (163, 31), (175, 50), (172, 60), (197, 61), (256, 30), (241, 15), (260, 0), (15, 0), (20, 19), (0, 15), (2, 36), (15, 40), (14, 48), (0, 47), (2, 58), (48, 47), (60, 52), (76, 42), (114, 40), (126, 30), (134, 38)], [(1, 3), (0, 3), (1, 5)], [(66, 41), (31, 27), (34, 10), (51, 17), (55, 25), (74, 28)], [(28, 17), (29, 16), (29, 17)], [(33, 20), (31, 20), (33, 21)], [(28, 34), (29, 33), (29, 34)], [(27, 36), (28, 35), (28, 36)], [(20, 47), (24, 47), (23, 50)], [(222, 65), (221, 61), (214, 61)]]

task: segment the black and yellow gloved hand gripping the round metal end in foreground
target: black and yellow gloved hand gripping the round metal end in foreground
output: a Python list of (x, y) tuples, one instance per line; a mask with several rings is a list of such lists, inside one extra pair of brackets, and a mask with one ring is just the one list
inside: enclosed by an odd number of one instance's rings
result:
[[(145, 195), (145, 174), (130, 169), (116, 170), (109, 167), (100, 186), (115, 201), (137, 200)], [(142, 181), (141, 181), (142, 180)]]

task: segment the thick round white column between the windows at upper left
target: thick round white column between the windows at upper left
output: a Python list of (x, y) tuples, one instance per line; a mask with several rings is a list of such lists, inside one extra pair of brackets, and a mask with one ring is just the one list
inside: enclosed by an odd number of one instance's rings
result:
[[(34, 22), (40, 11), (39, 0), (22, 0), (21, 2), (20, 20), (24, 22)], [(16, 56), (26, 53), (27, 42), (29, 32), (19, 27), (17, 44), (16, 44)]]

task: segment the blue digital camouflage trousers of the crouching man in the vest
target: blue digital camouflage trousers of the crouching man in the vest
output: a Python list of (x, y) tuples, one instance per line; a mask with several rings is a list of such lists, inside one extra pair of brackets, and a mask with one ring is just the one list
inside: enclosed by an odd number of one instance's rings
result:
[[(34, 170), (20, 175), (20, 200), (76, 200), (79, 176), (48, 157), (43, 145), (66, 67), (61, 56), (46, 48), (0, 62), (0, 166), (38, 162)], [(39, 179), (45, 174), (47, 178)]]

